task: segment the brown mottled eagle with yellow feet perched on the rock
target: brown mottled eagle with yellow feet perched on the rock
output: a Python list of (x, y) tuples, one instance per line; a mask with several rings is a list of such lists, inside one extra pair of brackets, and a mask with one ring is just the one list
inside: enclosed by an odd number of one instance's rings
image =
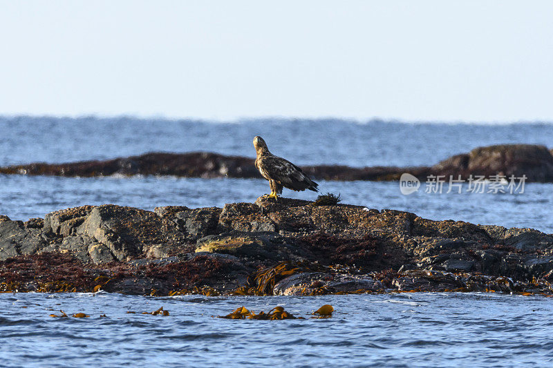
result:
[(313, 182), (301, 171), (301, 168), (287, 159), (270, 153), (267, 144), (259, 135), (254, 138), (254, 147), (257, 154), (255, 167), (265, 179), (269, 180), (271, 194), (268, 196), (270, 198), (278, 200), (283, 187), (293, 191), (305, 191), (306, 189), (314, 192), (319, 191), (317, 189), (319, 184)]

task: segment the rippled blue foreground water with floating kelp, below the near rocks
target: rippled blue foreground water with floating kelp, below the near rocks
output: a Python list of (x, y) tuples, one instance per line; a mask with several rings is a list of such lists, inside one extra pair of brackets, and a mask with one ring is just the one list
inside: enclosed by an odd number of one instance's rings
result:
[[(310, 319), (331, 304), (332, 318)], [(305, 320), (226, 320), (281, 305)], [(143, 315), (159, 307), (169, 316)], [(2, 367), (551, 367), (540, 296), (0, 294)], [(86, 313), (89, 318), (52, 318)], [(135, 311), (129, 314), (126, 311)], [(101, 318), (100, 315), (106, 315)], [(544, 318), (547, 316), (547, 318)]]

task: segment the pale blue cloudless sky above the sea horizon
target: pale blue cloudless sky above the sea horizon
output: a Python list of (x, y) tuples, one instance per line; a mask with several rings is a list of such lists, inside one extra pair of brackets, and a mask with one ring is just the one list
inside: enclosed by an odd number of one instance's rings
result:
[(0, 7), (4, 115), (553, 121), (553, 1)]

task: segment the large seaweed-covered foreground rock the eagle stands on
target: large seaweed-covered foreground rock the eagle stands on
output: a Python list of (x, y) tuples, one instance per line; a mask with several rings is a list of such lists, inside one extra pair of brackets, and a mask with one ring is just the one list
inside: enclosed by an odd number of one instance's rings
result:
[(223, 209), (81, 206), (27, 222), (1, 216), (0, 261), (6, 290), (553, 293), (551, 234), (287, 198)]

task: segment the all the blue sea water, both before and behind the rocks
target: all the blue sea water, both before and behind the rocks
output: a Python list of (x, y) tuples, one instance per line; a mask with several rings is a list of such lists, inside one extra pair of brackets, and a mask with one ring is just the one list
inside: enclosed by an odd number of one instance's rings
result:
[[(0, 166), (109, 159), (152, 151), (212, 151), (254, 157), (252, 139), (297, 164), (431, 165), (477, 146), (543, 144), (553, 124), (404, 124), (338, 119), (241, 122), (56, 117), (0, 117)], [(553, 184), (520, 193), (402, 195), (397, 182), (319, 182), (342, 202), (410, 211), (433, 220), (463, 220), (553, 233)], [(268, 182), (178, 177), (32, 177), (0, 175), (0, 214), (44, 217), (84, 204), (223, 206), (252, 202)], [(285, 189), (286, 197), (316, 194)], [(234, 321), (212, 318), (244, 305), (276, 305), (298, 316), (332, 304), (327, 320)], [(127, 314), (159, 307), (170, 316)], [(52, 311), (53, 309), (53, 311)], [(59, 309), (86, 319), (50, 318)], [(0, 294), (0, 367), (251, 365), (254, 367), (551, 366), (550, 299), (480, 293), (382, 296), (147, 298), (106, 293)], [(100, 318), (100, 314), (106, 318)]]

